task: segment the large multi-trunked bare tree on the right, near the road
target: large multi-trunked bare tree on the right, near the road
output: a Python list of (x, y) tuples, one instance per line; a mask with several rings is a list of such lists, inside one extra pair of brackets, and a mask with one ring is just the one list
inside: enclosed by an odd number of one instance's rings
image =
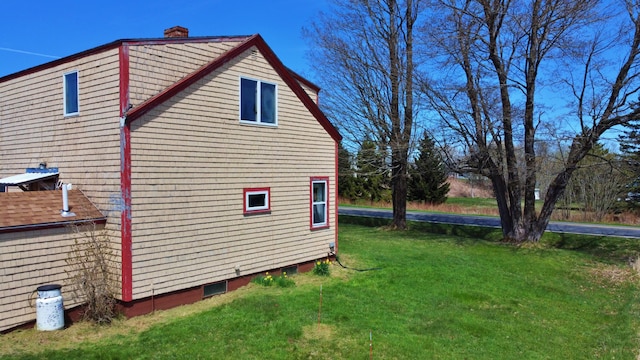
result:
[[(623, 24), (608, 16), (608, 5), (434, 2), (437, 15), (424, 30), (429, 56), (439, 62), (421, 89), (467, 149), (466, 169), (491, 180), (505, 240), (538, 241), (578, 163), (606, 131), (640, 118), (640, 5), (629, 0), (618, 6), (626, 11)], [(559, 103), (573, 106), (572, 112), (552, 115), (550, 108)], [(569, 152), (538, 213), (536, 133), (569, 117), (576, 120), (563, 124), (574, 129)]]

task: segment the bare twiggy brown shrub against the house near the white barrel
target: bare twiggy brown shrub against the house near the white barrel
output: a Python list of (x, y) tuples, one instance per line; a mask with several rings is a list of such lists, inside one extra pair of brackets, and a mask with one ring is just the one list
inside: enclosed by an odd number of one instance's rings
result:
[(117, 316), (117, 261), (106, 230), (95, 223), (70, 227), (73, 245), (67, 274), (71, 292), (84, 303), (83, 320), (109, 324)]

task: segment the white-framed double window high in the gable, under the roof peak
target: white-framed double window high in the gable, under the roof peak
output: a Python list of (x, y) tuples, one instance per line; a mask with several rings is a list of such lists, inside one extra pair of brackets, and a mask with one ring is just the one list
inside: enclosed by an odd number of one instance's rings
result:
[(240, 78), (240, 121), (278, 125), (276, 84)]

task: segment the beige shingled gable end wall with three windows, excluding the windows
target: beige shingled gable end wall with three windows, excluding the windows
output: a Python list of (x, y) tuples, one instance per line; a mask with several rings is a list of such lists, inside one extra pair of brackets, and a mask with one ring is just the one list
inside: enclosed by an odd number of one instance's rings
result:
[[(335, 241), (335, 141), (252, 50), (131, 125), (134, 299), (317, 259)], [(241, 75), (277, 84), (277, 127), (240, 123)], [(330, 227), (312, 231), (318, 176)], [(243, 189), (264, 187), (271, 212), (245, 216)]]

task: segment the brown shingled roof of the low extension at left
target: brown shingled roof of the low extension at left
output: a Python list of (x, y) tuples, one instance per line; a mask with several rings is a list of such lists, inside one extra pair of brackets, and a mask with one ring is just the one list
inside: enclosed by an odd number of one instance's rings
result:
[(69, 190), (68, 195), (69, 210), (76, 214), (73, 217), (60, 215), (62, 190), (0, 193), (0, 233), (106, 221), (82, 191)]

